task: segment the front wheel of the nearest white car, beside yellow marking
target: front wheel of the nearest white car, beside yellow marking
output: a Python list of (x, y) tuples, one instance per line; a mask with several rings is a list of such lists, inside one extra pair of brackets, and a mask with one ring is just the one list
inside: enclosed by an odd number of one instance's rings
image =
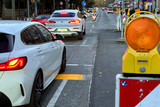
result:
[(66, 48), (64, 47), (60, 73), (65, 72), (65, 70), (66, 70)]

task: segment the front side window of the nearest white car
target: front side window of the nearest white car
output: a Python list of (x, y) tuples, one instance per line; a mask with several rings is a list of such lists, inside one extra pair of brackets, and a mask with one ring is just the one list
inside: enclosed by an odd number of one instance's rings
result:
[(46, 41), (52, 41), (53, 37), (51, 33), (43, 26), (37, 25), (37, 27), (40, 29), (42, 32), (42, 36), (45, 38)]

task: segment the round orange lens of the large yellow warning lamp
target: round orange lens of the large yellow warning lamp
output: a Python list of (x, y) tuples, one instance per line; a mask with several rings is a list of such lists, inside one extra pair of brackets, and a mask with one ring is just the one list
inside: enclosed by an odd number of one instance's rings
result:
[(125, 37), (135, 51), (149, 52), (159, 44), (159, 25), (149, 17), (139, 17), (127, 26)]

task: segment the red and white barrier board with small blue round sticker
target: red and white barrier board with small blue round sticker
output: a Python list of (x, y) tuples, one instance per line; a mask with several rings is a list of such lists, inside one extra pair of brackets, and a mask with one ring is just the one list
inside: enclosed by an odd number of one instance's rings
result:
[(116, 76), (115, 107), (160, 107), (160, 78)]

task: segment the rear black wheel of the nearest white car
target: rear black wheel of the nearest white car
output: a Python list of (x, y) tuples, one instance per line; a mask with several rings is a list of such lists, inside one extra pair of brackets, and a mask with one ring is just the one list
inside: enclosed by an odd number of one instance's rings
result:
[(29, 107), (40, 107), (43, 90), (43, 76), (38, 72), (32, 87), (31, 101)]

